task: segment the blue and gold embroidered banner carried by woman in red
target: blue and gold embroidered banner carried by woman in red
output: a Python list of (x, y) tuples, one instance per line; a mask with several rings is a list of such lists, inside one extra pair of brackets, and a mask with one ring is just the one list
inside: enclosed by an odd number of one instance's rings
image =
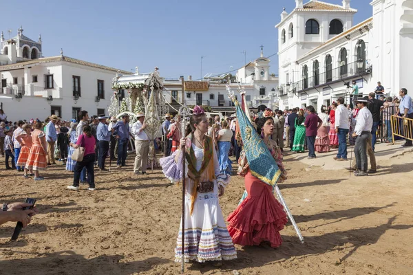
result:
[(239, 102), (236, 99), (233, 101), (237, 111), (238, 124), (240, 124), (244, 153), (248, 160), (251, 174), (266, 184), (275, 186), (281, 175), (281, 170), (279, 170), (264, 140), (255, 131), (253, 124), (251, 124), (251, 121), (240, 107)]

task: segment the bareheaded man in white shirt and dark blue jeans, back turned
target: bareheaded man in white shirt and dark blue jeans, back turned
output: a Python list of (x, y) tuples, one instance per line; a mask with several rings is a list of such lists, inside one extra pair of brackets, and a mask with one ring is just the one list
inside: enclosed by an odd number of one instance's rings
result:
[(347, 135), (350, 130), (348, 109), (344, 107), (344, 98), (337, 99), (337, 109), (335, 110), (335, 131), (339, 138), (339, 151), (335, 160), (347, 160)]

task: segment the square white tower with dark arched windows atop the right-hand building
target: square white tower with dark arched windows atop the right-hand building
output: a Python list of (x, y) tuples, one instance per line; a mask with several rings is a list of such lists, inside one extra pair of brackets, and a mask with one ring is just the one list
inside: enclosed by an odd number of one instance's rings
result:
[(293, 63), (310, 50), (350, 29), (356, 12), (350, 7), (350, 0), (343, 0), (342, 5), (295, 0), (292, 12), (288, 13), (284, 8), (281, 21), (275, 25), (278, 30), (279, 83), (301, 80), (301, 70), (295, 69), (296, 64)]

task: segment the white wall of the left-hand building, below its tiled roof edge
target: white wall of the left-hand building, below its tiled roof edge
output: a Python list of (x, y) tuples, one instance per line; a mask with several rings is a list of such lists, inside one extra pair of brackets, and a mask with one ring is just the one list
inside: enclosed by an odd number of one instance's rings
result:
[[(45, 74), (53, 74), (55, 88), (53, 91), (56, 93), (52, 93), (52, 89), (43, 89), (43, 91), (35, 92), (39, 96), (23, 96), (20, 101), (14, 97), (12, 100), (1, 99), (3, 110), (8, 114), (10, 120), (29, 120), (30, 118), (44, 120), (51, 114), (51, 106), (61, 107), (61, 116), (64, 120), (72, 118), (72, 107), (86, 110), (89, 115), (98, 115), (98, 109), (105, 109), (105, 114), (108, 114), (107, 108), (113, 94), (112, 78), (116, 72), (64, 61), (31, 65), (31, 67), (30, 69), (2, 72), (2, 74), (4, 78), (8, 79), (8, 83), (12, 83), (13, 76), (19, 77), (19, 84), (21, 84), (21, 78), (25, 76), (26, 84), (34, 85), (36, 90), (44, 88)], [(38, 76), (38, 83), (32, 83), (33, 75)], [(81, 77), (81, 97), (77, 102), (73, 99), (72, 76)], [(105, 98), (95, 102), (98, 95), (98, 79), (105, 81)], [(45, 97), (40, 97), (42, 95)], [(53, 95), (54, 99), (50, 102), (47, 101), (47, 95)]]

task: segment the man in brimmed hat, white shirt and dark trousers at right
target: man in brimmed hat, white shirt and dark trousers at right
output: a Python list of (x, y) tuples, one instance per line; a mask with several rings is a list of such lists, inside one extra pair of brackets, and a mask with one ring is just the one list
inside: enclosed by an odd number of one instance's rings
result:
[(373, 116), (367, 109), (368, 100), (359, 99), (354, 101), (360, 109), (357, 115), (357, 123), (352, 137), (357, 137), (354, 146), (354, 157), (356, 158), (357, 170), (355, 176), (367, 176), (367, 141), (372, 138)]

